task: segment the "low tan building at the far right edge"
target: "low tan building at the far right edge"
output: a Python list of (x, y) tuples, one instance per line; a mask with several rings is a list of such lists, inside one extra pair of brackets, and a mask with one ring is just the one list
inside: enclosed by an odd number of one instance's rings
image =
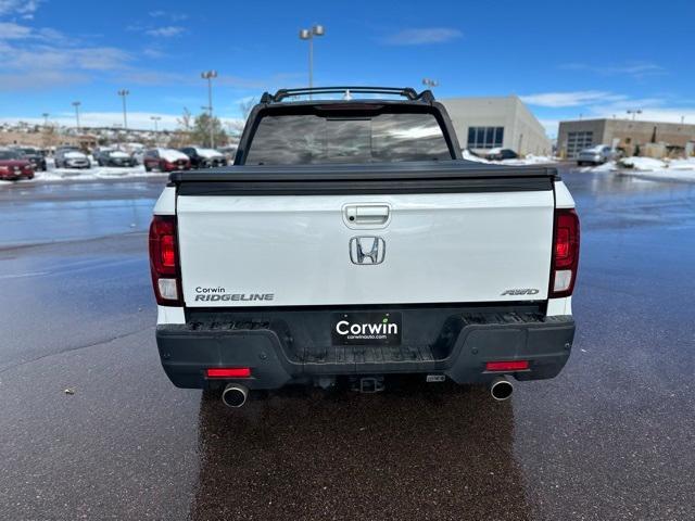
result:
[(560, 122), (557, 151), (560, 157), (573, 158), (595, 144), (608, 144), (626, 155), (683, 155), (695, 142), (695, 125), (635, 122), (632, 119), (578, 119)]

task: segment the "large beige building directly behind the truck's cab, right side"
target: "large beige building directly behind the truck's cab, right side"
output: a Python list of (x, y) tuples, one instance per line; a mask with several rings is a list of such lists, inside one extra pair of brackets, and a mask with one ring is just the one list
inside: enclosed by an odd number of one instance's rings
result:
[(463, 149), (484, 153), (493, 148), (526, 155), (549, 155), (545, 129), (517, 96), (441, 100)]

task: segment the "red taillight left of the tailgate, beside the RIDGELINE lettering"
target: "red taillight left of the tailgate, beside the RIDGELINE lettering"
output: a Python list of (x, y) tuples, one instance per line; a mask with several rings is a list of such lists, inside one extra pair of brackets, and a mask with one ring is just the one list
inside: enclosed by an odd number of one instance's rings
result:
[(150, 270), (156, 303), (181, 306), (181, 283), (176, 243), (176, 217), (155, 215), (150, 225)]

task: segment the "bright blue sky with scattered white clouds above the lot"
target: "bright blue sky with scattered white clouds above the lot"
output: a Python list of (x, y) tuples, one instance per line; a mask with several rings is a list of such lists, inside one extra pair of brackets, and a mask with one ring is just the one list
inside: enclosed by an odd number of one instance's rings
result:
[(564, 118), (695, 123), (695, 4), (655, 2), (197, 2), (0, 0), (0, 119), (122, 123), (116, 91), (130, 90), (130, 126), (206, 104), (200, 72), (215, 68), (218, 115), (264, 90), (315, 85), (421, 88), (439, 98), (520, 96), (556, 132)]

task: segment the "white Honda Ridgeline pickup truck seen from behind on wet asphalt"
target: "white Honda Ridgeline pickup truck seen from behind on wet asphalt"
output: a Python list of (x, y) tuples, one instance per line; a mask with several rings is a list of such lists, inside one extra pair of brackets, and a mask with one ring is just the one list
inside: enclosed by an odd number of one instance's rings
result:
[(155, 205), (163, 367), (230, 406), (399, 374), (507, 398), (509, 376), (553, 378), (570, 355), (573, 207), (555, 168), (462, 160), (429, 91), (265, 93), (235, 165), (173, 173)]

